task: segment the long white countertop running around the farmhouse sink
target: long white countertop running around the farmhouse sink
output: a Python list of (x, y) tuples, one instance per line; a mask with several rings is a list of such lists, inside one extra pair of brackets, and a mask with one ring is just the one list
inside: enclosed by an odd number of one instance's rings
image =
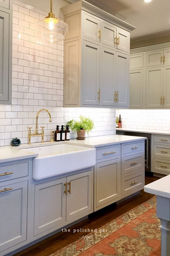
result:
[[(133, 142), (135, 140), (145, 140), (145, 137), (135, 137), (135, 136), (126, 136), (126, 135), (105, 135), (105, 136), (98, 136), (98, 137), (89, 137), (85, 140), (77, 140), (72, 139), (68, 141), (58, 141), (58, 142), (45, 142), (45, 143), (32, 143), (31, 145), (23, 144), (18, 147), (12, 147), (12, 146), (4, 146), (0, 147), (0, 163), (3, 162), (9, 162), (9, 161), (15, 161), (20, 159), (26, 159), (26, 158), (32, 158), (37, 157), (38, 154), (29, 152), (29, 148), (33, 147), (40, 147), (40, 146), (49, 146), (49, 145), (55, 145), (55, 144), (61, 144), (61, 143), (68, 143), (72, 145), (78, 145), (78, 146), (84, 146), (84, 147), (103, 147), (103, 146), (109, 146), (113, 144), (118, 143), (124, 143), (124, 142)], [(20, 150), (23, 148), (28, 148), (27, 150)]]

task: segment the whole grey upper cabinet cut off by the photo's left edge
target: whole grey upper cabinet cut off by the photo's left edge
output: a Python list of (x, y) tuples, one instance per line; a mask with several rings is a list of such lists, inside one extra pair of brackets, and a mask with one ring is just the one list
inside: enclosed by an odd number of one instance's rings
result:
[(11, 91), (12, 91), (12, 1), (9, 2), (9, 0), (8, 1), (0, 0), (0, 104), (9, 104), (9, 105), (11, 104), (11, 100), (12, 100)]

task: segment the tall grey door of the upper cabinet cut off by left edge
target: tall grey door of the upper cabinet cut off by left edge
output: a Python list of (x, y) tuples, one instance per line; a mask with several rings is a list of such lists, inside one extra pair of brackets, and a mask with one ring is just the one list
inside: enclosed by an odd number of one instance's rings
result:
[(0, 102), (8, 101), (9, 83), (9, 19), (10, 14), (0, 11)]

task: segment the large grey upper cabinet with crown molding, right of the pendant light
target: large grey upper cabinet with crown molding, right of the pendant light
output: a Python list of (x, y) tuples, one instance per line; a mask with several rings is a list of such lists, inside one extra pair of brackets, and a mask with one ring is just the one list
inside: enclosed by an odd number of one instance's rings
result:
[(85, 1), (61, 10), (69, 25), (64, 42), (64, 107), (127, 108), (134, 27)]

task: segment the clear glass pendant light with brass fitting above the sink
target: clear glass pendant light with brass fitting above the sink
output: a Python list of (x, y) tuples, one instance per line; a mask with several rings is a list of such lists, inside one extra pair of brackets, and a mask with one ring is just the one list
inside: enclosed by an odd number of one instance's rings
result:
[(45, 42), (54, 44), (64, 40), (69, 26), (62, 20), (55, 17), (53, 13), (53, 0), (50, 0), (50, 12), (44, 20), (35, 23), (37, 36)]

